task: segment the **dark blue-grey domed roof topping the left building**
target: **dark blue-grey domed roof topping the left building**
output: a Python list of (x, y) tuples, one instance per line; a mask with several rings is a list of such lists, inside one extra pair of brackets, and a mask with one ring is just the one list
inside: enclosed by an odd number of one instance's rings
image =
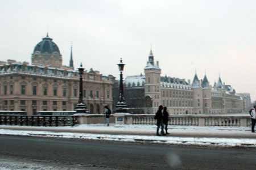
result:
[(52, 54), (54, 52), (57, 52), (60, 54), (59, 47), (55, 44), (55, 42), (52, 41), (50, 37), (48, 37), (48, 33), (46, 37), (43, 38), (42, 41), (40, 41), (34, 49), (35, 52), (40, 52), (40, 53), (49, 53)]

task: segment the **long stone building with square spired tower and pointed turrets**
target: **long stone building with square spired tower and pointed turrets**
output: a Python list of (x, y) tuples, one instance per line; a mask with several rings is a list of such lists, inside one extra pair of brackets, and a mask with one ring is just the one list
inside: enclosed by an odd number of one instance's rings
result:
[[(170, 114), (240, 113), (242, 99), (231, 86), (225, 86), (219, 78), (210, 86), (207, 76), (199, 80), (161, 76), (159, 62), (154, 62), (150, 50), (144, 75), (127, 76), (124, 79), (124, 96), (130, 113), (155, 114), (159, 105), (168, 108)], [(113, 107), (118, 101), (118, 82), (113, 89)]]

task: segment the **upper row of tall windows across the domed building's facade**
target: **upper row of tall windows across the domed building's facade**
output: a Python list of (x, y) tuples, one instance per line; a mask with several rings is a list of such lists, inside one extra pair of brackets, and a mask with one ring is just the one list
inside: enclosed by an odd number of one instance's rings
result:
[[(38, 88), (37, 86), (32, 87), (32, 95), (37, 95), (37, 88)], [(7, 95), (7, 86), (3, 87), (3, 91), (4, 91), (4, 95)], [(14, 87), (13, 87), (13, 85), (10, 85), (10, 95), (13, 95), (13, 92), (14, 92)], [(48, 94), (47, 92), (48, 92), (48, 87), (43, 87), (43, 95), (44, 96), (47, 96), (47, 94)], [(26, 94), (26, 86), (25, 85), (21, 86), (20, 94), (22, 94), (22, 95)], [(52, 94), (53, 94), (53, 96), (57, 96), (57, 87), (53, 87)], [(84, 97), (86, 97), (86, 90), (83, 90), (82, 95)], [(106, 95), (107, 95), (106, 96), (107, 98), (110, 98), (110, 92), (109, 91), (107, 91)], [(67, 96), (67, 88), (63, 88), (63, 96)], [(77, 97), (77, 89), (76, 88), (73, 89), (73, 96)], [(93, 91), (90, 90), (88, 96), (98, 98), (98, 97), (100, 97), (100, 92), (96, 91), (96, 94), (94, 96)]]

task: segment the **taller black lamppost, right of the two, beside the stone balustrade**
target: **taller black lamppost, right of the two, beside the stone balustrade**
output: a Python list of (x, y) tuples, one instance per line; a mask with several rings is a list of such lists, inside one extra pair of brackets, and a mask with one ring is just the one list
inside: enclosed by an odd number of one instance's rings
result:
[(115, 106), (117, 113), (126, 113), (127, 105), (125, 103), (125, 97), (123, 97), (123, 67), (125, 64), (122, 62), (122, 58), (120, 59), (120, 63), (117, 64), (120, 71), (120, 82), (119, 82), (119, 100), (117, 105)]

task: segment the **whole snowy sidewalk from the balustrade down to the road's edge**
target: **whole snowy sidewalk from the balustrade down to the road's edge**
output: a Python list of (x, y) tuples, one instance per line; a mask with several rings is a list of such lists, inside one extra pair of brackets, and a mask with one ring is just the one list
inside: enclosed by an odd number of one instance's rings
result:
[(250, 127), (170, 126), (169, 135), (156, 136), (155, 125), (89, 124), (67, 127), (0, 126), (0, 134), (79, 138), (120, 142), (256, 147)]

